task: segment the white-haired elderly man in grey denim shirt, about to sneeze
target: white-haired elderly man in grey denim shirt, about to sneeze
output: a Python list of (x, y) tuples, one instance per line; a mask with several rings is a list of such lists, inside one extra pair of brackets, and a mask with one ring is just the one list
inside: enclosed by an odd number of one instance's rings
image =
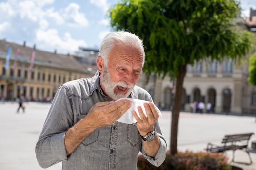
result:
[[(152, 101), (135, 86), (145, 53), (138, 36), (118, 31), (102, 41), (92, 78), (59, 87), (36, 145), (41, 167), (62, 161), (62, 170), (136, 170), (139, 151), (153, 165), (166, 156), (154, 104), (133, 111), (136, 125), (117, 120), (131, 107), (128, 97)], [(145, 116), (146, 114), (146, 116)]]

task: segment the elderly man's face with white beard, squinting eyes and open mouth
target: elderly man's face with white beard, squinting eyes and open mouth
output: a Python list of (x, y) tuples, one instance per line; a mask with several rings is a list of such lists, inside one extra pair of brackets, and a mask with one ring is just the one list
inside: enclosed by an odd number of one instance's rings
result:
[(103, 92), (113, 100), (128, 97), (142, 70), (142, 51), (127, 45), (116, 45), (108, 59), (108, 65), (104, 65), (100, 75)]

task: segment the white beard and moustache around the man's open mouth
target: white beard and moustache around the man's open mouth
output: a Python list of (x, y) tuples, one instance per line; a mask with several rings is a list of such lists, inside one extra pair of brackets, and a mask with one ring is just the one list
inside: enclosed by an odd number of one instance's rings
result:
[[(109, 71), (106, 69), (106, 67), (103, 68), (104, 71), (102, 71), (100, 75), (100, 81), (102, 82), (102, 85), (105, 87), (105, 93), (108, 95), (113, 100), (118, 100), (120, 98), (126, 98), (130, 95), (131, 91), (133, 90), (133, 87), (135, 86), (134, 84), (132, 85), (127, 85), (124, 81), (120, 82), (112, 82)], [(115, 87), (117, 86), (122, 86), (124, 88), (128, 88), (127, 92), (125, 94), (118, 94), (114, 92)]]

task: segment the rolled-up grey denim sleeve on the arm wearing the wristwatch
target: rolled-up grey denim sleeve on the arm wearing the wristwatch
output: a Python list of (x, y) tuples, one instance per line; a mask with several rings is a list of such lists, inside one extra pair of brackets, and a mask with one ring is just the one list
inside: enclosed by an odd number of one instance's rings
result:
[(156, 122), (155, 129), (158, 133), (158, 137), (159, 137), (159, 140), (160, 140), (160, 147), (158, 149), (158, 153), (156, 154), (155, 157), (148, 156), (145, 153), (145, 151), (143, 150), (142, 147), (141, 147), (141, 153), (143, 154), (144, 158), (146, 160), (148, 160), (151, 164), (159, 167), (163, 163), (163, 161), (165, 160), (166, 150), (167, 150), (167, 143), (165, 141), (164, 136), (162, 136), (162, 132), (161, 132), (161, 129), (159, 127), (158, 121)]

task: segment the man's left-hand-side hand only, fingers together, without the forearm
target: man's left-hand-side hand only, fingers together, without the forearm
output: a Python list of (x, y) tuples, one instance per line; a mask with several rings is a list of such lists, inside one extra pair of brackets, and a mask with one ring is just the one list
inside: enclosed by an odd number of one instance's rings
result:
[(86, 119), (91, 120), (94, 128), (114, 124), (131, 107), (131, 103), (129, 100), (96, 103), (89, 110)]

